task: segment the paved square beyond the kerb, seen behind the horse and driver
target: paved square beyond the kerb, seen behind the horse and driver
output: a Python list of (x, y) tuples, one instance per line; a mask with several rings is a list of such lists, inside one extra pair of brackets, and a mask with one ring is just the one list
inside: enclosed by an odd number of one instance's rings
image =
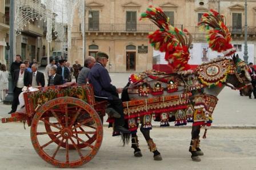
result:
[[(120, 88), (127, 84), (129, 75), (130, 73), (110, 73), (112, 83)], [(256, 99), (239, 96), (237, 90), (227, 87), (222, 90), (218, 98), (219, 101), (213, 113), (213, 127), (256, 128)], [(0, 103), (0, 118), (9, 117), (7, 113), (10, 107)], [(174, 126), (174, 123), (170, 125)], [(153, 126), (159, 126), (159, 122), (154, 122)]]

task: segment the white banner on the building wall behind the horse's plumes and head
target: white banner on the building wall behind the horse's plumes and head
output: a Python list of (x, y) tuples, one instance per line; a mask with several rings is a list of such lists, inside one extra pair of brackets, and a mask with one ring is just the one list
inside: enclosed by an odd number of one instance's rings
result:
[[(243, 51), (245, 49), (245, 44), (233, 44), (235, 48), (237, 48), (238, 56), (243, 60)], [(254, 44), (248, 45), (248, 63), (254, 63)], [(218, 53), (212, 51), (208, 44), (206, 43), (193, 43), (190, 46), (190, 60), (189, 64), (191, 65), (199, 65), (202, 63), (206, 63), (210, 60), (216, 59), (217, 57), (222, 57), (223, 53)], [(157, 57), (158, 64), (168, 64), (165, 61), (165, 52), (153, 51), (153, 56)], [(255, 64), (255, 63), (254, 63)]]

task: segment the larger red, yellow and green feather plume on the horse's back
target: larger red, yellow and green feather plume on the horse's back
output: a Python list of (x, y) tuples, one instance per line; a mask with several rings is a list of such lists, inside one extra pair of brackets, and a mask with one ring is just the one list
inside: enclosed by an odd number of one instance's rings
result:
[(149, 34), (149, 42), (155, 49), (165, 52), (165, 60), (173, 67), (174, 72), (190, 69), (188, 61), (191, 34), (187, 30), (171, 26), (169, 18), (158, 7), (149, 6), (146, 13), (141, 14), (141, 19), (150, 19), (159, 27)]

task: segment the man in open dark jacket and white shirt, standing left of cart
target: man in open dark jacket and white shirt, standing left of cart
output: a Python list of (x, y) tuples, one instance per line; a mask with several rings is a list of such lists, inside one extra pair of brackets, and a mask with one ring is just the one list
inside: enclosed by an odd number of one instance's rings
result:
[(31, 85), (30, 73), (25, 70), (26, 65), (21, 64), (19, 69), (15, 70), (13, 73), (13, 103), (11, 105), (10, 113), (14, 113), (17, 110), (17, 106), (19, 104), (19, 94), (22, 92), (22, 88), (24, 86), (29, 87)]

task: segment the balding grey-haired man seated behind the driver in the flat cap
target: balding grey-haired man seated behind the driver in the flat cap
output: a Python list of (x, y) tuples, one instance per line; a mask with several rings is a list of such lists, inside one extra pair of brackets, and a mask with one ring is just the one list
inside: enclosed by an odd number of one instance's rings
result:
[(96, 61), (93, 56), (89, 56), (87, 57), (87, 59), (85, 59), (84, 67), (78, 74), (78, 85), (86, 84), (86, 78), (88, 77), (88, 73), (90, 72), (90, 69), (94, 66), (95, 62)]

